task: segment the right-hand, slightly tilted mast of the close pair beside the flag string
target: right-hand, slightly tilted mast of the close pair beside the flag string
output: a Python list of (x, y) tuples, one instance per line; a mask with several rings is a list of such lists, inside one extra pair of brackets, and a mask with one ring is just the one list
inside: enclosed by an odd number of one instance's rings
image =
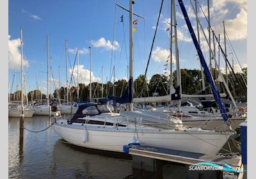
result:
[[(176, 54), (176, 65), (177, 65), (177, 86), (180, 87), (180, 94), (182, 94), (181, 88), (181, 77), (180, 77), (180, 60), (179, 60), (179, 49), (178, 49), (178, 38), (177, 38), (177, 20), (176, 20), (176, 8), (175, 1), (173, 2), (173, 26), (174, 26), (174, 34), (175, 34), (175, 54)], [(181, 113), (181, 100), (178, 102), (178, 113)]]

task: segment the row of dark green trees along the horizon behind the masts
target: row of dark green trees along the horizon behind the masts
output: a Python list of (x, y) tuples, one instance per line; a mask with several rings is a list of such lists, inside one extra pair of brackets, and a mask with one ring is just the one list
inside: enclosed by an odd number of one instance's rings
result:
[[(201, 71), (197, 69), (180, 69), (181, 75), (181, 86), (182, 93), (184, 94), (194, 94), (198, 91), (202, 91), (202, 77)], [(223, 82), (218, 82), (218, 72), (213, 68), (212, 69), (212, 77), (216, 86), (219, 86), (220, 93), (224, 93), (226, 90), (224, 88)], [(173, 87), (177, 87), (177, 73), (173, 72)], [(226, 79), (226, 75), (224, 75)], [(246, 84), (244, 84), (244, 80), (247, 83), (247, 68), (243, 68), (243, 72), (237, 72), (236, 77), (232, 74), (228, 74), (228, 87), (234, 97), (237, 98), (245, 98), (246, 100), (247, 89)], [(89, 84), (81, 84), (79, 83), (79, 100), (88, 100), (90, 95)], [(114, 89), (115, 87), (115, 89)], [(211, 88), (209, 87), (209, 82), (205, 81), (205, 93), (211, 93)], [(116, 97), (121, 97), (124, 95), (127, 88), (127, 81), (125, 79), (120, 79), (115, 82), (108, 81), (106, 84), (98, 82), (92, 82), (92, 98), (106, 98), (108, 95), (115, 95)], [(70, 102), (74, 102), (77, 100), (77, 88), (72, 86), (69, 89), (69, 100)], [(102, 95), (103, 90), (103, 95)], [(49, 96), (49, 98), (60, 98), (65, 100), (67, 97), (67, 88), (61, 87), (60, 89), (55, 89), (53, 94)], [(134, 80), (134, 97), (152, 97), (154, 95), (163, 96), (170, 94), (170, 76), (166, 76), (163, 74), (155, 74), (152, 75), (150, 79), (145, 77), (145, 75), (139, 75)], [(10, 100), (20, 100), (21, 91), (15, 91), (15, 93), (10, 94)], [(41, 97), (42, 96), (42, 97)], [(40, 90), (35, 89), (33, 91), (29, 91), (28, 100), (35, 99), (45, 99), (46, 95), (42, 94)], [(240, 100), (240, 99), (238, 99)], [(241, 100), (240, 100), (241, 101)]]

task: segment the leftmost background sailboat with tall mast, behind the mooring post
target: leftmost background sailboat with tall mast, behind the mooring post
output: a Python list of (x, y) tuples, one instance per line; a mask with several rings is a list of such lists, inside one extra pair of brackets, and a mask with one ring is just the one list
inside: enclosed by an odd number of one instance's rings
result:
[[(8, 116), (10, 118), (19, 118), (22, 114), (22, 108), (23, 108), (23, 114), (25, 118), (31, 118), (34, 114), (34, 109), (32, 107), (29, 107), (28, 105), (23, 106), (23, 82), (24, 82), (24, 72), (23, 72), (23, 41), (22, 41), (22, 29), (20, 29), (20, 57), (21, 57), (21, 100), (20, 104), (11, 104), (9, 103), (8, 106)], [(28, 100), (27, 100), (28, 102)]]

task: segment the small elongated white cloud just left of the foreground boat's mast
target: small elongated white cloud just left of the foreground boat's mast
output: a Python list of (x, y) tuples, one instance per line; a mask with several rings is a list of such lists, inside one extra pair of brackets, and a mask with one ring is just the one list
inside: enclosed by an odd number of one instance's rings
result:
[(93, 47), (102, 47), (107, 51), (112, 49), (113, 51), (116, 51), (119, 48), (118, 42), (114, 41), (112, 44), (110, 40), (106, 40), (104, 37), (99, 38), (99, 40), (91, 40), (91, 44)]

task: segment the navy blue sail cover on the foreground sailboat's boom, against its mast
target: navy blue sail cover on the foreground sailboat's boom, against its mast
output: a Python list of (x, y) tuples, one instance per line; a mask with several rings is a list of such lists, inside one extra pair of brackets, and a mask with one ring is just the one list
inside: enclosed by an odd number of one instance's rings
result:
[(114, 96), (108, 96), (109, 100), (113, 100), (114, 104), (116, 102), (120, 103), (120, 104), (124, 104), (124, 103), (131, 103), (132, 102), (132, 96), (133, 96), (133, 87), (132, 87), (132, 83), (133, 83), (133, 79), (130, 78), (129, 79), (129, 84), (128, 84), (128, 88), (126, 89), (124, 95), (122, 97), (114, 97)]

